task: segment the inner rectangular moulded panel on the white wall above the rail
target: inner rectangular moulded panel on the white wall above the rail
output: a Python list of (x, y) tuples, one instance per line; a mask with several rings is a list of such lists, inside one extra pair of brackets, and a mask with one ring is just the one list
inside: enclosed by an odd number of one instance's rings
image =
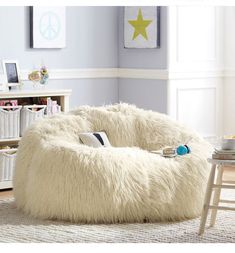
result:
[(177, 61), (216, 60), (216, 7), (179, 6), (176, 25)]

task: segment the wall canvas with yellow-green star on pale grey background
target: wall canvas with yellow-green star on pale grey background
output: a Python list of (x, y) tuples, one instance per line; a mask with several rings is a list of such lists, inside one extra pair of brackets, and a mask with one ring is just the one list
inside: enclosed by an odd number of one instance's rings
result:
[(124, 47), (160, 47), (160, 7), (125, 7)]

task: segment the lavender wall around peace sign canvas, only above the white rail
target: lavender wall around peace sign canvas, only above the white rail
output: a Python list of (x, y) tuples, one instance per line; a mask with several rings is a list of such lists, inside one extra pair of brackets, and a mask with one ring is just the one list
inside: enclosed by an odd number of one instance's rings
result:
[(116, 7), (66, 7), (66, 48), (31, 49), (29, 8), (0, 7), (0, 59), (17, 58), (22, 69), (117, 67), (117, 27)]

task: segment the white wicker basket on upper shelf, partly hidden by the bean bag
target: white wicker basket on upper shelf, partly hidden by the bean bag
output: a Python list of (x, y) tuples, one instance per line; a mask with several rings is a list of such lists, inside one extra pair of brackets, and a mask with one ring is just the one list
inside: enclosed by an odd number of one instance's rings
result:
[(46, 105), (25, 105), (21, 110), (20, 120), (20, 134), (21, 136), (25, 130), (36, 120), (45, 116)]

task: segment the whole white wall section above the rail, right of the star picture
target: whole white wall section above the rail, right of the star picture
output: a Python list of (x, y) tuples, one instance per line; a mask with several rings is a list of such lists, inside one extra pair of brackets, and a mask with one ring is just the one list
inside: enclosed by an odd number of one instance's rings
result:
[(216, 6), (170, 6), (169, 70), (223, 69), (223, 11)]

